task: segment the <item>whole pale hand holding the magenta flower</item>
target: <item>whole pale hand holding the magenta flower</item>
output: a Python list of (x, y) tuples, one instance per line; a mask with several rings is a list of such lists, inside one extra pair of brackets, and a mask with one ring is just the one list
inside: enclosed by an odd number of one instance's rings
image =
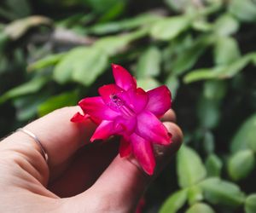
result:
[(135, 158), (119, 157), (117, 138), (90, 144), (96, 125), (71, 123), (78, 111), (65, 107), (26, 125), (49, 154), (48, 164), (23, 132), (0, 142), (0, 212), (133, 212), (183, 139), (169, 110), (162, 122), (173, 142), (155, 147), (157, 169), (147, 176)]

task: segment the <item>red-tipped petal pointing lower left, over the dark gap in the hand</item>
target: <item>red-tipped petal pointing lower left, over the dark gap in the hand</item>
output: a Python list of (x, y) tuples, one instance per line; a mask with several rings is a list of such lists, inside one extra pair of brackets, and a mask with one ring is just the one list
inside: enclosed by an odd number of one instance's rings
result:
[(103, 120), (91, 136), (90, 141), (106, 140), (109, 136), (118, 134), (121, 130), (123, 129), (119, 124), (115, 124), (113, 121)]

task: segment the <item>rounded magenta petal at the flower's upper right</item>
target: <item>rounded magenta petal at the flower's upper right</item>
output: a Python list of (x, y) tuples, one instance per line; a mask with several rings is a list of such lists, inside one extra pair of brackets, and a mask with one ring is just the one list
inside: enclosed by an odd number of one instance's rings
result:
[(168, 109), (171, 108), (171, 92), (166, 86), (160, 86), (151, 89), (147, 92), (148, 105), (146, 109), (157, 117), (162, 116)]

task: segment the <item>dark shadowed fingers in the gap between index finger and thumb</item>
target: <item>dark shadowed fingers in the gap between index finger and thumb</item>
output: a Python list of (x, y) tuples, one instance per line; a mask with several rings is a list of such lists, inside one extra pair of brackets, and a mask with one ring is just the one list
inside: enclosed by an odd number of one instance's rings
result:
[(49, 190), (61, 198), (83, 193), (95, 183), (119, 151), (119, 141), (91, 143), (76, 153), (65, 173), (49, 184)]

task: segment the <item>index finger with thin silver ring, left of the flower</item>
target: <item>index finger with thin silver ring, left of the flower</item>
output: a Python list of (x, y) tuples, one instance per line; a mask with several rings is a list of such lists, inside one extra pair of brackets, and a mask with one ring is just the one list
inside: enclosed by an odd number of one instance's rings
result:
[[(64, 164), (79, 147), (89, 141), (90, 135), (96, 128), (90, 120), (83, 125), (70, 122), (70, 118), (78, 111), (79, 107), (61, 108), (27, 124), (24, 128), (37, 135), (49, 155), (49, 167), (55, 172), (60, 168), (59, 165)], [(9, 141), (12, 146), (19, 146), (20, 139), (41, 152), (33, 139), (22, 132), (10, 135), (4, 141)], [(32, 161), (38, 161), (38, 159), (35, 158)]]

